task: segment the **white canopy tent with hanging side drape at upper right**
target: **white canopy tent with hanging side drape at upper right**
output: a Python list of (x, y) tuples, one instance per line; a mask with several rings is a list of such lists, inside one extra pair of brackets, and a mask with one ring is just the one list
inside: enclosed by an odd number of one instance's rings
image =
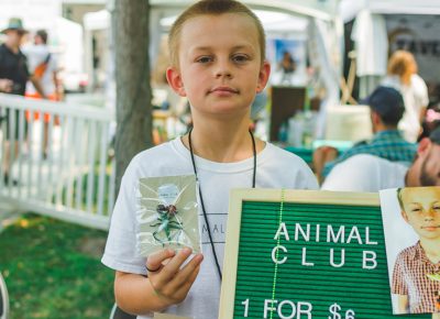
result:
[[(393, 43), (389, 43), (391, 37), (396, 36), (398, 29), (405, 29), (407, 33), (410, 33), (406, 36), (413, 42), (421, 43), (422, 46), (428, 42), (430, 43), (428, 45), (439, 42), (440, 2), (438, 0), (342, 0), (340, 15), (344, 23), (355, 19), (351, 38), (355, 43), (360, 96), (370, 94), (381, 77), (386, 74), (388, 51), (395, 48), (413, 51), (419, 64), (419, 73), (424, 77), (433, 79), (440, 72), (440, 68), (437, 68), (440, 52), (437, 54), (435, 48), (431, 56), (424, 54), (421, 57), (415, 52), (417, 47), (392, 47)], [(428, 50), (420, 48), (420, 51)]]

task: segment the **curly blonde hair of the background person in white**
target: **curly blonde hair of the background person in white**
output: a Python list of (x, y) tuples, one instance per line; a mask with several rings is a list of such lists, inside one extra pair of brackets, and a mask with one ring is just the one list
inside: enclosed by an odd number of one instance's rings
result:
[(397, 75), (403, 84), (409, 85), (411, 75), (416, 73), (417, 63), (411, 53), (403, 50), (393, 53), (388, 62), (388, 74)]

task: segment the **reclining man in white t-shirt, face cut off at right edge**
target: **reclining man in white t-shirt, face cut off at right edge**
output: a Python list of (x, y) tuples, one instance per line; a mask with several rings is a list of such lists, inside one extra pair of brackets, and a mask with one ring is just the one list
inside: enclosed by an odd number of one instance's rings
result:
[(321, 189), (374, 193), (419, 186), (440, 186), (440, 127), (419, 142), (409, 168), (400, 163), (360, 154), (334, 166)]

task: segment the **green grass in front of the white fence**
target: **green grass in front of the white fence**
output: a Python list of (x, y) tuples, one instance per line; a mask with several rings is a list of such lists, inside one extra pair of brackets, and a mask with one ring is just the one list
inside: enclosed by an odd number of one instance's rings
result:
[(108, 318), (113, 271), (100, 263), (107, 232), (32, 213), (0, 233), (11, 318)]

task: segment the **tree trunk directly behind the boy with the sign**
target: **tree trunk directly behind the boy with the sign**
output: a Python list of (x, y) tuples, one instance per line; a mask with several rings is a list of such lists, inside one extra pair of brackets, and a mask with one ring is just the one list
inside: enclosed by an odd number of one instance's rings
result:
[(131, 158), (152, 145), (148, 21), (147, 0), (114, 1), (112, 34), (117, 84), (117, 195)]

